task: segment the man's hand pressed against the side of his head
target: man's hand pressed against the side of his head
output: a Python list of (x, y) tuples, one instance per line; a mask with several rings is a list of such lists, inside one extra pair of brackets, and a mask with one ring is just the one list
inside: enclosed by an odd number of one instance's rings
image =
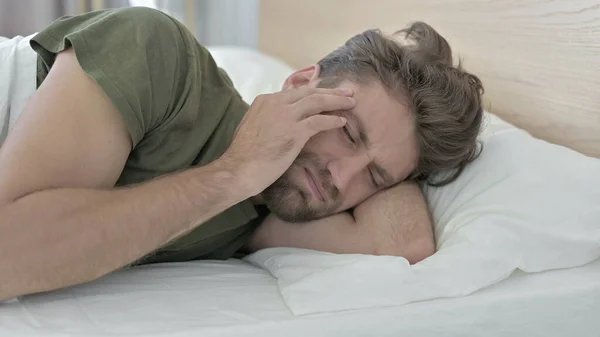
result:
[(259, 194), (292, 165), (312, 136), (344, 126), (344, 118), (321, 113), (352, 109), (351, 96), (348, 89), (309, 86), (258, 96), (223, 158), (243, 166), (251, 190)]

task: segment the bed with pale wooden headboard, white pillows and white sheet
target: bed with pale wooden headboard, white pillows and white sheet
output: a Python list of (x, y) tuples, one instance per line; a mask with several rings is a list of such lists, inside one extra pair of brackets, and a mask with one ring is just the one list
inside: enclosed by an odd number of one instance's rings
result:
[(600, 335), (595, 1), (261, 0), (260, 15), (259, 51), (211, 47), (246, 100), (352, 34), (417, 19), (481, 77), (490, 154), (425, 189), (435, 257), (271, 249), (142, 266), (1, 303), (0, 336)]

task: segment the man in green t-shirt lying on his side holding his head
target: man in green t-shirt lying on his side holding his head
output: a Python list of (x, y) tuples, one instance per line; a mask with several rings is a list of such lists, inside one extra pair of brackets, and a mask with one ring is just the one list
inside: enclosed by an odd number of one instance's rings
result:
[(476, 156), (482, 88), (429, 26), (405, 33), (357, 35), (248, 107), (159, 11), (56, 21), (0, 150), (0, 299), (272, 246), (431, 255), (416, 183)]

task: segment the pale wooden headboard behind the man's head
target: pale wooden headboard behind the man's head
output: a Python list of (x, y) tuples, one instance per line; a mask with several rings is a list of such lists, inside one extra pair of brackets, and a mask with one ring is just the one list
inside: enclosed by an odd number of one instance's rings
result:
[(486, 90), (486, 109), (600, 157), (598, 0), (261, 0), (259, 46), (293, 67), (365, 29), (425, 21)]

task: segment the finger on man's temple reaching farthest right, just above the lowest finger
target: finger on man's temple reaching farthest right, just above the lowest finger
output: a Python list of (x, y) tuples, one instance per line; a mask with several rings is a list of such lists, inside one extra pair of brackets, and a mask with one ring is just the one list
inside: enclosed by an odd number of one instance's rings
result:
[(292, 104), (292, 111), (298, 115), (298, 119), (303, 119), (322, 112), (350, 110), (355, 105), (352, 97), (314, 94)]

